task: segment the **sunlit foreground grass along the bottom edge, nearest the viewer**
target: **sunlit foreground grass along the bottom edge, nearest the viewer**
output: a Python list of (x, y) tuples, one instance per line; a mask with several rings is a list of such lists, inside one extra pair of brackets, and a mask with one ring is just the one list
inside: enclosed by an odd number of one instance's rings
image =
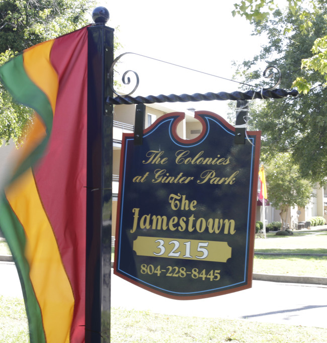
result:
[[(327, 329), (219, 318), (184, 317), (146, 311), (111, 310), (111, 342), (296, 343), (327, 342)], [(0, 342), (28, 343), (22, 299), (0, 296)]]

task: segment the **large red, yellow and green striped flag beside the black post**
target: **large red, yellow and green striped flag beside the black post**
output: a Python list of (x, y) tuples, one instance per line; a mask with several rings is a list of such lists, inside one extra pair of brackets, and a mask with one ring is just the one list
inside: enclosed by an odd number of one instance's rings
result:
[(35, 110), (0, 200), (0, 227), (20, 276), (31, 342), (84, 342), (87, 27), (0, 67)]

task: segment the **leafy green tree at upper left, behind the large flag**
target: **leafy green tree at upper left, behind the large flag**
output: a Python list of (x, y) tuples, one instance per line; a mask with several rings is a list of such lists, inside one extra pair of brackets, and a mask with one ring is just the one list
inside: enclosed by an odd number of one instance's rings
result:
[[(25, 48), (83, 27), (94, 7), (90, 0), (2, 0), (0, 65)], [(0, 140), (17, 141), (30, 114), (0, 84)]]

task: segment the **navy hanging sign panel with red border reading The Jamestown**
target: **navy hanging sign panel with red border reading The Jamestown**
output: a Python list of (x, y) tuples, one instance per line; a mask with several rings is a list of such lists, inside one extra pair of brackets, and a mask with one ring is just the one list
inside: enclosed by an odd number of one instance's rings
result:
[(116, 275), (162, 296), (195, 299), (252, 285), (260, 132), (196, 112), (202, 133), (177, 135), (184, 113), (161, 117), (135, 145), (124, 134)]

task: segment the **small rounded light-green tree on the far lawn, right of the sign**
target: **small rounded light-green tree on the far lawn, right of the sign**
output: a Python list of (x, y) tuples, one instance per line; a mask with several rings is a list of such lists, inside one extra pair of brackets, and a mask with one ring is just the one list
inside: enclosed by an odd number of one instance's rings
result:
[(301, 178), (288, 153), (275, 156), (265, 170), (269, 201), (279, 209), (282, 223), (289, 223), (288, 210), (305, 207), (310, 202), (312, 185)]

